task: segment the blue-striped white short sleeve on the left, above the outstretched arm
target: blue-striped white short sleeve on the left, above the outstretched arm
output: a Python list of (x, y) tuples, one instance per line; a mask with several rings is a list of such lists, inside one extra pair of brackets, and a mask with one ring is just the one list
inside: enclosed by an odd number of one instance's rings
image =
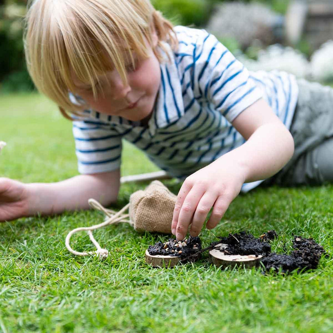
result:
[(116, 129), (95, 121), (74, 121), (73, 135), (80, 173), (108, 172), (120, 168), (122, 135)]

